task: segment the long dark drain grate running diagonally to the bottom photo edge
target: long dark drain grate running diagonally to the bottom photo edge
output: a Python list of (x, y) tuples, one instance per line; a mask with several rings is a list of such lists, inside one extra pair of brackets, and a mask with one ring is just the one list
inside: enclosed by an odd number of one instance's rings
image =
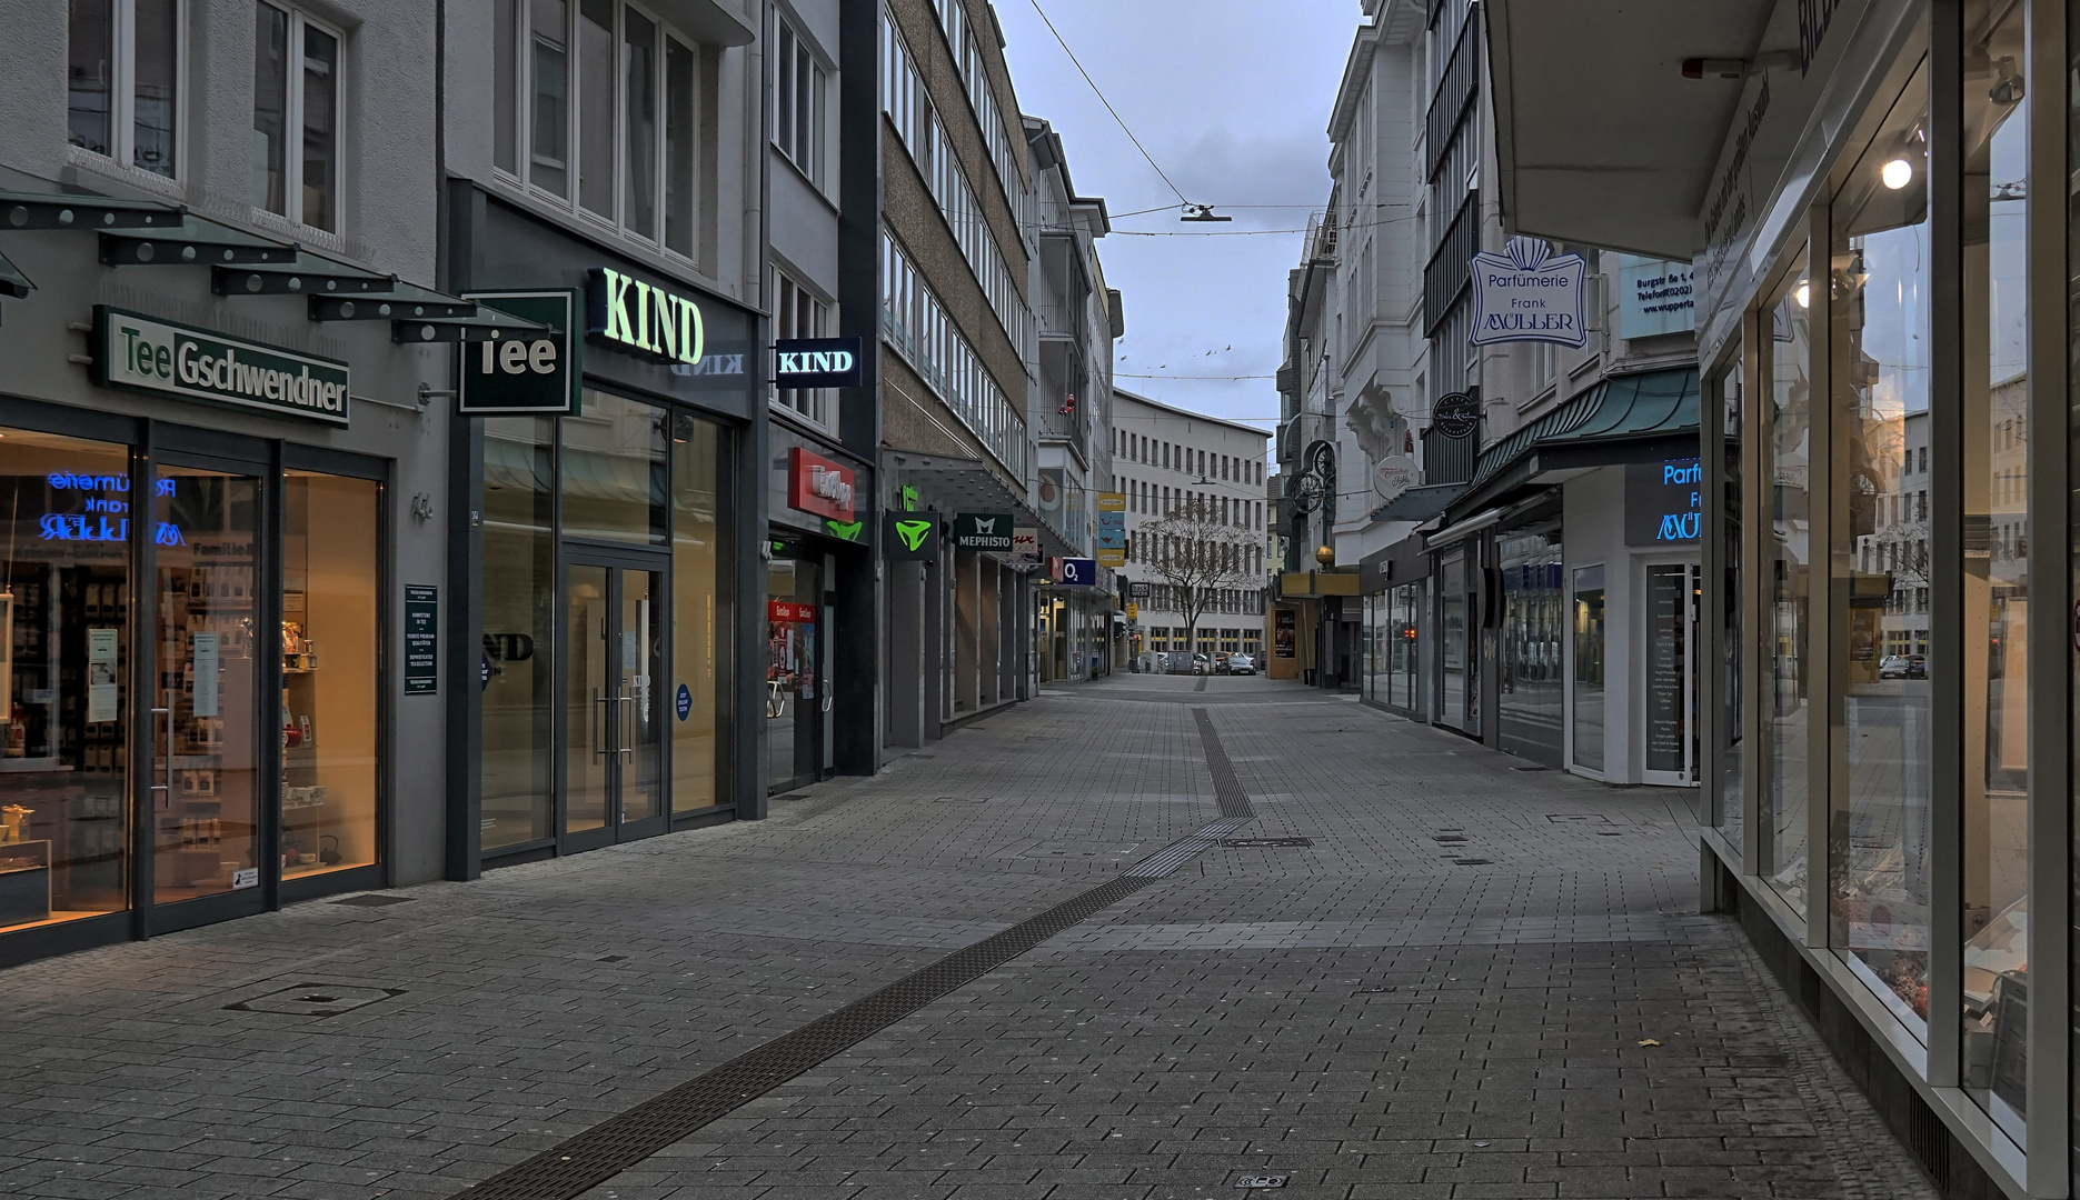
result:
[(1040, 942), (1098, 913), (1150, 880), (1121, 876), (1028, 917), (1009, 930), (955, 950), (888, 984), (872, 996), (782, 1034), (738, 1054), (699, 1079), (688, 1079), (626, 1113), (607, 1117), (584, 1133), (499, 1171), (456, 1196), (468, 1200), (574, 1200), (620, 1175), (701, 1125), (726, 1117), (809, 1067), (832, 1059), (880, 1029), (909, 1017), (946, 992), (1017, 959)]

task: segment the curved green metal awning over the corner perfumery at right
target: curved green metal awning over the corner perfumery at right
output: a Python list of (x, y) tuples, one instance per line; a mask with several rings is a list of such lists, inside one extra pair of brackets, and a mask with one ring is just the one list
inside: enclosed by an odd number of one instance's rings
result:
[[(1600, 466), (1697, 455), (1697, 368), (1612, 374), (1481, 451), (1448, 522)], [(1435, 541), (1435, 539), (1433, 539)]]

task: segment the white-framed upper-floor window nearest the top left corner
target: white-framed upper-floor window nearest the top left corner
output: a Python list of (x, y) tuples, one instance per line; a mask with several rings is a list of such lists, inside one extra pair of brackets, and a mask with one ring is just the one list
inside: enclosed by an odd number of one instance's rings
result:
[(179, 162), (179, 0), (71, 0), (67, 40), (67, 139), (171, 179)]

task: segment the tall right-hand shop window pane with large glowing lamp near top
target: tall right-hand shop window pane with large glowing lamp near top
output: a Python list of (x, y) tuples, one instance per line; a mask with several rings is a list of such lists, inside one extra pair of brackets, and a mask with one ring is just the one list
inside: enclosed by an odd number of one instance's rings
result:
[[(1928, 476), (1928, 71), (1849, 173), (1832, 206), (1835, 480), (1847, 493), (1832, 532), (1835, 628), (1847, 792), (1832, 797), (1830, 938), (1909, 1027), (1928, 1019), (1928, 672), (1891, 653), (1928, 614), (1895, 597), (1928, 586), (1928, 520), (1914, 497)], [(1939, 503), (1945, 497), (1936, 497)], [(1922, 659), (1926, 663), (1926, 659)]]

